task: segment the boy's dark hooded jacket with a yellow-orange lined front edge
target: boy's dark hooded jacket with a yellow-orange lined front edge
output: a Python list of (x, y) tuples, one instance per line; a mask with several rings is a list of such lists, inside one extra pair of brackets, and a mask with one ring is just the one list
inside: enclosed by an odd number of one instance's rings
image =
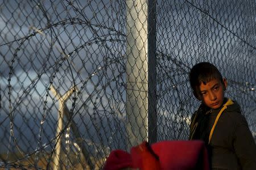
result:
[(230, 99), (222, 107), (201, 104), (191, 119), (189, 139), (207, 144), (212, 169), (256, 169), (256, 145), (240, 105)]

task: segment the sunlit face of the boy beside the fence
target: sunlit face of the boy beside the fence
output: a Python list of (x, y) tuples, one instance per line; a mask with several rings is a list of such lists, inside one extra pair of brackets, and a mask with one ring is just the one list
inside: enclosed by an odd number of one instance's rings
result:
[(226, 79), (223, 79), (223, 82), (220, 79), (212, 79), (206, 84), (201, 82), (197, 88), (198, 99), (209, 108), (220, 108), (224, 101), (224, 90), (226, 86)]

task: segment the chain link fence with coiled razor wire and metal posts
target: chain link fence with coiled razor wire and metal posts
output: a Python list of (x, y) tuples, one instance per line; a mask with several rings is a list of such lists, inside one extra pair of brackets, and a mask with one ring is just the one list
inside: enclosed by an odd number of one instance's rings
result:
[(0, 0), (0, 167), (101, 169), (185, 140), (209, 61), (256, 131), (255, 1)]

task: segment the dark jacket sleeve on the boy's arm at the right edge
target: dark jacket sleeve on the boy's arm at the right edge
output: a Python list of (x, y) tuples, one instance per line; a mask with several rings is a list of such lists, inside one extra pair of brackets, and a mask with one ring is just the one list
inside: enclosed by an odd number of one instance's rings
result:
[(256, 169), (256, 145), (245, 117), (237, 117), (233, 147), (242, 169)]

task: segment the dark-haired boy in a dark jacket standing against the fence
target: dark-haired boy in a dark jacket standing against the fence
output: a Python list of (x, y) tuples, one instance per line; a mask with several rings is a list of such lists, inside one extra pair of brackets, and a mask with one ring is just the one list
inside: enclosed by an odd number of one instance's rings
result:
[(189, 140), (207, 145), (212, 169), (256, 169), (256, 145), (240, 106), (224, 97), (227, 82), (208, 62), (192, 67), (189, 82), (199, 109), (191, 118)]

